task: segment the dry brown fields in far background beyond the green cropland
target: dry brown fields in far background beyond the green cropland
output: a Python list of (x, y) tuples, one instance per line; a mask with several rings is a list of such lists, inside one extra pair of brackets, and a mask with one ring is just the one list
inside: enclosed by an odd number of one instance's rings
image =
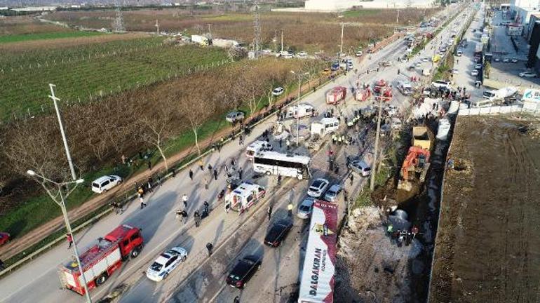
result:
[[(400, 23), (396, 24), (395, 10), (358, 10), (343, 15), (336, 13), (261, 13), (264, 47), (278, 48), (283, 30), (285, 48), (291, 50), (324, 50), (331, 55), (339, 44), (339, 22), (346, 22), (344, 48), (351, 50), (370, 40), (381, 39), (393, 33), (396, 27), (414, 25), (436, 13), (437, 9), (400, 10)], [(111, 27), (114, 11), (60, 11), (49, 15), (50, 20), (82, 25), (90, 28)], [(124, 11), (123, 19), (128, 31), (154, 32), (156, 19), (160, 31), (204, 34), (211, 25), (212, 36), (237, 39), (250, 43), (253, 39), (251, 13), (224, 13), (167, 9), (161, 11)], [(277, 41), (274, 38), (278, 36)]]

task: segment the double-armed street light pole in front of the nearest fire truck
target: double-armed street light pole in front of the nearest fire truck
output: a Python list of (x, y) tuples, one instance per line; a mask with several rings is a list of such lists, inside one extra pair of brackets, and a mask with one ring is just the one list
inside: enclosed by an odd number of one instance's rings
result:
[[(69, 194), (71, 194), (76, 189), (78, 184), (81, 184), (82, 182), (84, 182), (84, 180), (83, 179), (77, 179), (77, 180), (70, 181), (70, 182), (55, 182), (53, 180), (50, 180), (48, 177), (45, 177), (43, 175), (39, 175), (38, 173), (36, 173), (34, 170), (31, 170), (31, 169), (27, 170), (26, 173), (28, 175), (34, 177), (36, 182), (41, 184), (41, 186), (43, 187), (43, 189), (45, 189), (45, 191), (50, 196), (50, 198), (56, 204), (58, 204), (58, 206), (60, 206), (60, 209), (62, 209), (62, 215), (64, 216), (64, 221), (66, 223), (67, 234), (72, 236), (73, 251), (75, 253), (75, 260), (77, 262), (77, 266), (79, 267), (79, 271), (81, 271), (81, 277), (83, 278), (83, 285), (84, 285), (84, 292), (85, 292), (85, 295), (86, 295), (86, 301), (88, 303), (92, 303), (92, 299), (90, 298), (90, 293), (88, 292), (88, 286), (86, 285), (86, 277), (84, 276), (83, 267), (81, 265), (81, 260), (79, 258), (79, 250), (77, 250), (77, 244), (76, 244), (76, 241), (75, 241), (75, 237), (73, 235), (72, 225), (69, 224), (69, 218), (67, 217), (67, 210), (66, 210), (66, 203), (65, 203), (65, 198), (67, 198), (69, 196)], [(39, 179), (41, 179), (41, 180), (39, 180)], [(46, 182), (54, 184), (55, 187), (58, 188), (58, 193), (55, 194), (53, 192), (53, 189), (49, 189), (46, 186)], [(67, 194), (65, 194), (65, 195), (62, 194), (62, 187), (67, 186), (69, 184), (74, 184), (74, 187), (72, 189), (69, 189), (69, 191), (67, 191)]]

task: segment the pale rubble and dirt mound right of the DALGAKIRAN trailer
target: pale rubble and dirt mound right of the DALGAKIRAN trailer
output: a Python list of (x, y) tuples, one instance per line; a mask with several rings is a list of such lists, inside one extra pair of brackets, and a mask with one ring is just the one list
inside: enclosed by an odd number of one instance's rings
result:
[(420, 302), (412, 275), (425, 265), (415, 258), (422, 245), (416, 239), (398, 247), (386, 236), (378, 208), (353, 210), (339, 237), (335, 302)]

